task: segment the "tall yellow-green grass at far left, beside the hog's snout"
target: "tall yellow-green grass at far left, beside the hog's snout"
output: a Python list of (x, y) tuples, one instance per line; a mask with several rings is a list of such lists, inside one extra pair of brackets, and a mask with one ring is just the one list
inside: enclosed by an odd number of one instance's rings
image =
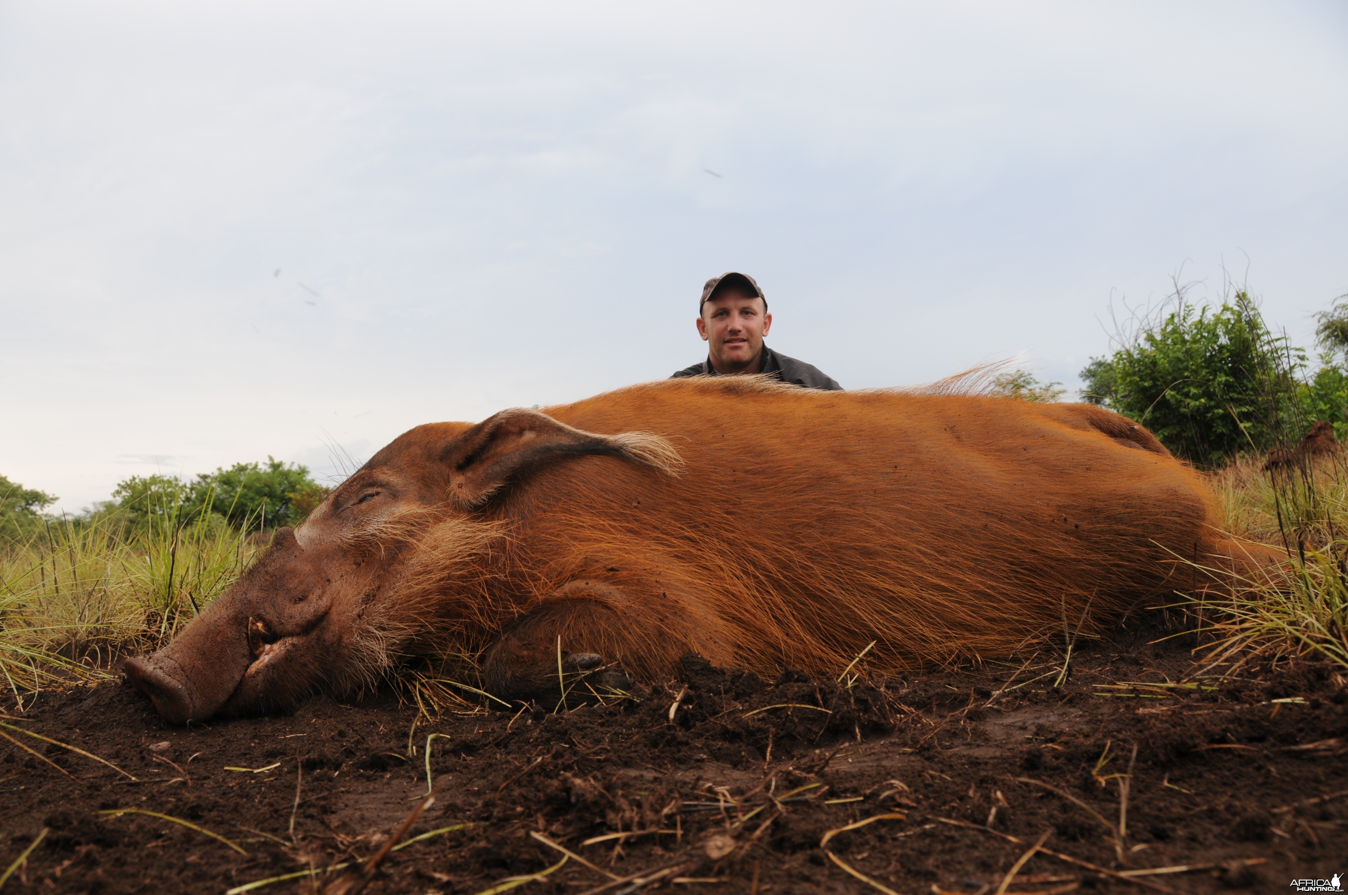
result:
[(22, 708), (43, 686), (106, 677), (173, 639), (263, 546), (210, 514), (135, 528), (116, 512), (0, 543), (5, 686)]

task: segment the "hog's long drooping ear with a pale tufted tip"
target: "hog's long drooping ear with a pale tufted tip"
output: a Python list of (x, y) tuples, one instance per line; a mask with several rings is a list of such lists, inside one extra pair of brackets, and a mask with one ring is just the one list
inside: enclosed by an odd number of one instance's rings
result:
[(537, 410), (503, 410), (445, 446), (449, 491), (465, 510), (483, 505), (512, 474), (568, 457), (621, 457), (677, 476), (683, 460), (659, 435), (624, 431), (616, 435), (572, 429)]

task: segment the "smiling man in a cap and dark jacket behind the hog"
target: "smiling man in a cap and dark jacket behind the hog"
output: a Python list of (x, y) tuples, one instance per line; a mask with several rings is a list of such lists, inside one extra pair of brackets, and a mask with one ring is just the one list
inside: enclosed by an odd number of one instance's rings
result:
[(681, 369), (679, 376), (735, 376), (767, 373), (805, 388), (841, 391), (842, 387), (818, 367), (779, 354), (763, 344), (772, 328), (767, 298), (747, 274), (723, 274), (706, 280), (697, 306), (697, 333), (708, 342), (706, 360)]

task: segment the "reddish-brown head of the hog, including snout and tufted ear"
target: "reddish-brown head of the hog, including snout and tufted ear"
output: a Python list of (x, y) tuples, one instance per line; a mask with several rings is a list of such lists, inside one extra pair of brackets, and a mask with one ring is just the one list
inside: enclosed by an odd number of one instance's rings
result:
[(177, 640), (129, 659), (127, 677), (175, 724), (280, 710), (315, 690), (372, 683), (419, 636), (489, 623), (491, 593), (474, 559), (504, 523), (481, 519), (483, 510), (531, 470), (582, 456), (681, 469), (656, 435), (597, 435), (528, 410), (476, 426), (419, 426), (298, 530), (280, 528)]

